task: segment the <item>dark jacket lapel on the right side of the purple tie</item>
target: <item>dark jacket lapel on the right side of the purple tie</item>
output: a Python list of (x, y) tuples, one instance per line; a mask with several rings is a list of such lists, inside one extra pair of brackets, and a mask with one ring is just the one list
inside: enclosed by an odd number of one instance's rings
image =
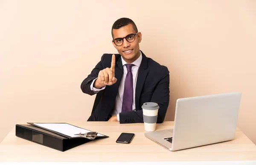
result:
[(135, 107), (136, 110), (140, 110), (140, 93), (143, 88), (143, 84), (145, 82), (145, 79), (147, 77), (148, 71), (146, 70), (148, 67), (147, 63), (147, 57), (142, 52), (142, 61), (140, 63), (140, 67), (138, 70), (138, 77), (136, 82), (136, 89), (135, 89)]

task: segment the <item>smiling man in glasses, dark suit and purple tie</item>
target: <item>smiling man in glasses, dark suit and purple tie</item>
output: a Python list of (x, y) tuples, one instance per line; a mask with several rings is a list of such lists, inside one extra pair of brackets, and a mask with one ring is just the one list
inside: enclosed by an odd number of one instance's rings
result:
[(155, 102), (157, 123), (162, 123), (169, 105), (169, 70), (140, 51), (142, 34), (131, 19), (116, 20), (111, 33), (119, 54), (102, 55), (81, 83), (83, 93), (97, 94), (88, 121), (143, 122), (143, 103)]

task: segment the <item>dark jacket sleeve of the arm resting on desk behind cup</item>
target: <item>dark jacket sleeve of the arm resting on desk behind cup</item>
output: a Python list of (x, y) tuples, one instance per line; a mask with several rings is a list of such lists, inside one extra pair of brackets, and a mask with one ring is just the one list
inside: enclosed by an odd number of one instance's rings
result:
[[(161, 71), (161, 79), (157, 83), (154, 93), (151, 98), (151, 102), (155, 102), (159, 105), (157, 114), (157, 123), (162, 123), (166, 116), (166, 111), (169, 105), (170, 98), (170, 75), (167, 67), (164, 67)], [(143, 123), (143, 111), (130, 111), (125, 113), (119, 113), (120, 124), (123, 123)]]

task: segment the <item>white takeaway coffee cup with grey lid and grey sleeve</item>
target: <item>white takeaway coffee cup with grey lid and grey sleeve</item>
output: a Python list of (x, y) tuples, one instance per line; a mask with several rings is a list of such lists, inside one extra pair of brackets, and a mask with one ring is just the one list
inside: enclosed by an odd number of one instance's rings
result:
[(158, 109), (158, 104), (154, 102), (146, 102), (142, 105), (145, 131), (156, 130)]

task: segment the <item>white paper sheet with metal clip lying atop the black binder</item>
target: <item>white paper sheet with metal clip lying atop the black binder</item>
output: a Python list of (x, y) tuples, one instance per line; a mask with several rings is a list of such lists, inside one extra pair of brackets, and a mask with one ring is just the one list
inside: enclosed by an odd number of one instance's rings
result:
[[(95, 131), (90, 131), (81, 127), (77, 127), (68, 123), (32, 123), (28, 122), (35, 127), (56, 133), (60, 136), (64, 136), (68, 139), (76, 138), (87, 138), (87, 139), (96, 139), (96, 138), (107, 138), (109, 136), (97, 133)], [(71, 129), (71, 130), (70, 130)], [(74, 132), (76, 131), (76, 132)]]

